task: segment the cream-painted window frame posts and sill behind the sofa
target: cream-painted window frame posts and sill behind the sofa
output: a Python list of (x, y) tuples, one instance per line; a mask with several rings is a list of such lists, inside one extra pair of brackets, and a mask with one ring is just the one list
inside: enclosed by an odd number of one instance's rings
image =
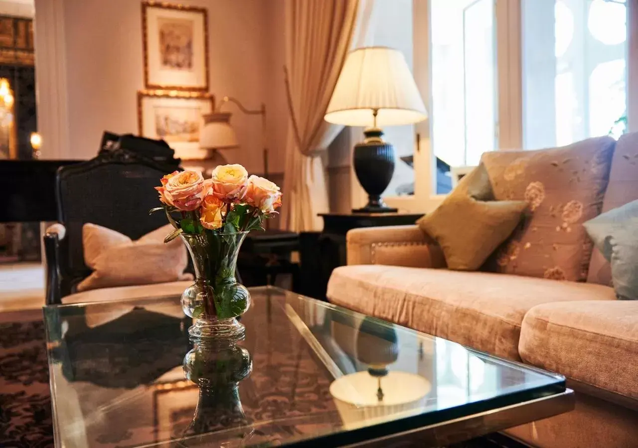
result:
[[(413, 75), (428, 111), (432, 110), (430, 0), (413, 0)], [(498, 76), (498, 150), (523, 147), (521, 0), (494, 0)], [(638, 131), (638, 0), (627, 0), (627, 131)], [(445, 198), (436, 194), (430, 119), (415, 125), (413, 196), (384, 197), (404, 212), (430, 212)]]

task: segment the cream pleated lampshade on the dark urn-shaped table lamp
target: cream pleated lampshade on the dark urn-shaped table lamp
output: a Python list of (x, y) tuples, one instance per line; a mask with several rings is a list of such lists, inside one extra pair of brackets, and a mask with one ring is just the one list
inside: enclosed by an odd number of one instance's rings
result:
[(365, 47), (346, 57), (324, 119), (346, 126), (413, 124), (427, 119), (408, 63), (399, 50)]

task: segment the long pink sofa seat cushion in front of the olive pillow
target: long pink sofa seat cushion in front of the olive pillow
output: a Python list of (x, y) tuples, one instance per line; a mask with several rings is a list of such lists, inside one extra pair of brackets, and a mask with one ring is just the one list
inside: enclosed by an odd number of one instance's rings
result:
[(521, 322), (557, 301), (615, 300), (611, 287), (486, 272), (400, 266), (332, 271), (332, 303), (519, 361)]

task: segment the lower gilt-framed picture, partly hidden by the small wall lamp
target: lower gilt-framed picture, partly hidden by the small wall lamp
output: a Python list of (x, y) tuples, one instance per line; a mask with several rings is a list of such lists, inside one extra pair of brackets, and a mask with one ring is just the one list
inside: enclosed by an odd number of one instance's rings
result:
[(214, 110), (211, 94), (142, 90), (137, 92), (138, 132), (142, 137), (165, 140), (175, 157), (201, 158), (202, 115)]

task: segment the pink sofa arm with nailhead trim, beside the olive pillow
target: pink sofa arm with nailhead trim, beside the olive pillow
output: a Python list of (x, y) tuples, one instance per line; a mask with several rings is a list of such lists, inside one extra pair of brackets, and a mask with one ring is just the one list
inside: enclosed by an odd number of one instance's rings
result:
[(440, 246), (417, 226), (353, 229), (346, 239), (348, 264), (445, 268)]

